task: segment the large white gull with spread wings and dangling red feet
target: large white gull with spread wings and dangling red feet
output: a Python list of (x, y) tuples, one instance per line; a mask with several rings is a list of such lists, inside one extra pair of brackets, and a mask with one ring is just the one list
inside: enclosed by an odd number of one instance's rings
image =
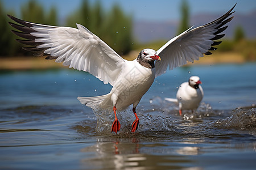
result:
[[(139, 118), (136, 107), (142, 96), (150, 88), (156, 76), (166, 72), (167, 67), (174, 69), (185, 65), (187, 61), (193, 62), (199, 57), (212, 54), (209, 50), (216, 50), (213, 46), (221, 41), (215, 41), (224, 36), (220, 33), (228, 26), (233, 17), (234, 5), (220, 18), (197, 28), (189, 28), (174, 37), (157, 51), (143, 49), (133, 61), (127, 61), (110, 48), (104, 41), (94, 35), (84, 26), (77, 24), (77, 28), (56, 27), (27, 22), (8, 15), (16, 23), (9, 24), (18, 29), (13, 31), (24, 39), (19, 42), (31, 45), (23, 49), (35, 52), (35, 56), (44, 56), (46, 59), (55, 59), (63, 65), (77, 70), (86, 71), (105, 84), (113, 86), (109, 94), (96, 97), (78, 97), (82, 104), (93, 108), (112, 108), (115, 121), (112, 131), (117, 133), (120, 124), (117, 111), (122, 111), (133, 104), (136, 120), (131, 131), (138, 128)], [(161, 59), (160, 59), (160, 57)]]

